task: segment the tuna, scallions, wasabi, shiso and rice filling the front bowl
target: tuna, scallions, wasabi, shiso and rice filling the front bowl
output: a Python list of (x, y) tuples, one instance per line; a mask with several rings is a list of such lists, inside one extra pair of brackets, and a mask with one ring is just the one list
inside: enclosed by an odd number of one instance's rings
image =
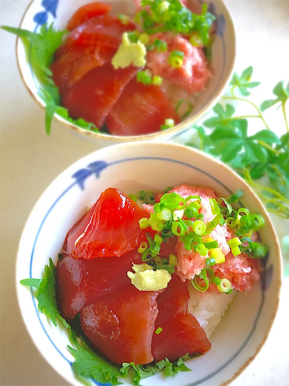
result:
[(21, 281), (39, 294), (41, 283), (54, 283), (76, 374), (85, 376), (81, 352), (109, 366), (101, 383), (133, 372), (139, 384), (190, 371), (185, 361), (211, 349), (211, 334), (238, 293), (250, 296), (268, 252), (258, 236), (264, 220), (241, 206), (242, 194), (189, 185), (102, 192), (68, 231), (56, 267), (51, 260), (42, 280)]

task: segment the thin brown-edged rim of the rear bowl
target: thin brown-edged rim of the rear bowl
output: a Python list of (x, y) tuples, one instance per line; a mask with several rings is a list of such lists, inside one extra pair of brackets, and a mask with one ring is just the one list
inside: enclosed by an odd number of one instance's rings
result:
[[(22, 24), (24, 22), (26, 14), (35, 1), (37, 1), (37, 0), (31, 0), (31, 2), (27, 5), (26, 10), (22, 16), (21, 21), (20, 21), (19, 28), (22, 28)], [(234, 71), (235, 62), (236, 62), (236, 29), (235, 29), (235, 24), (234, 24), (232, 15), (231, 15), (228, 7), (226, 6), (226, 3), (224, 2), (224, 0), (218, 0), (218, 1), (221, 1), (221, 3), (223, 4), (223, 6), (227, 12), (228, 19), (230, 20), (230, 27), (231, 27), (232, 32), (233, 32), (233, 36), (232, 36), (233, 44), (232, 44), (232, 49), (231, 49), (231, 52), (233, 54), (233, 60), (230, 64), (230, 68), (228, 69), (228, 74), (224, 78), (224, 85), (221, 88), (221, 90), (218, 93), (216, 93), (216, 95), (213, 97), (211, 102), (209, 104), (207, 104), (206, 106), (204, 106), (194, 117), (192, 117), (191, 119), (185, 120), (184, 122), (180, 122), (178, 125), (170, 128), (170, 129), (158, 131), (158, 132), (154, 132), (154, 133), (150, 133), (150, 134), (142, 134), (142, 135), (112, 135), (112, 134), (104, 134), (101, 132), (93, 132), (91, 130), (82, 129), (81, 127), (78, 127), (75, 124), (67, 122), (66, 120), (64, 120), (62, 117), (60, 117), (56, 113), (54, 113), (53, 118), (58, 120), (59, 123), (64, 124), (68, 130), (72, 130), (72, 132), (74, 132), (75, 134), (78, 134), (81, 136), (84, 135), (87, 137), (93, 137), (93, 138), (99, 139), (99, 140), (104, 139), (104, 140), (109, 141), (110, 144), (112, 144), (112, 142), (116, 143), (116, 141), (124, 143), (127, 141), (137, 142), (137, 141), (146, 141), (146, 140), (154, 141), (157, 139), (165, 139), (165, 138), (172, 139), (173, 137), (177, 137), (181, 134), (184, 134), (184, 132), (186, 132), (187, 130), (189, 130), (192, 127), (194, 122), (200, 120), (218, 102), (218, 100), (220, 99), (224, 90), (228, 86), (228, 84), (231, 80), (233, 71)], [(29, 95), (34, 100), (34, 102), (36, 102), (38, 106), (40, 106), (43, 110), (45, 110), (46, 104), (43, 101), (40, 101), (36, 98), (35, 93), (31, 90), (31, 88), (27, 84), (26, 79), (23, 75), (22, 67), (21, 67), (21, 61), (19, 59), (19, 54), (18, 54), (19, 41), (20, 41), (20, 37), (17, 36), (16, 37), (16, 43), (15, 43), (15, 53), (16, 53), (16, 62), (17, 62), (17, 67), (18, 67), (20, 78), (21, 78), (26, 90), (28, 91)]]

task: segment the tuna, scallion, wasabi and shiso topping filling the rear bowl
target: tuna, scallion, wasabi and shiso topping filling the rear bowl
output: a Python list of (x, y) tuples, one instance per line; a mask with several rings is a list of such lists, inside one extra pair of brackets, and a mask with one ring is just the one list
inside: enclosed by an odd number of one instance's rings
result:
[(95, 132), (145, 135), (194, 110), (214, 73), (216, 17), (197, 0), (134, 0), (134, 8), (115, 15), (114, 5), (93, 2), (67, 15), (63, 30), (4, 29), (32, 46), (45, 40), (46, 63), (36, 46), (32, 52), (44, 71), (43, 97), (54, 100), (58, 115)]

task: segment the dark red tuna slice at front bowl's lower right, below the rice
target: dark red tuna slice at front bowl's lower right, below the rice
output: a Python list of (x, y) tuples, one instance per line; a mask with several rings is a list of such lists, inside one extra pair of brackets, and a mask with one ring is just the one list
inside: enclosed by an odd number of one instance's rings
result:
[(162, 328), (159, 335), (153, 335), (151, 345), (156, 362), (164, 358), (174, 362), (187, 352), (204, 354), (211, 348), (206, 333), (191, 314), (176, 313)]

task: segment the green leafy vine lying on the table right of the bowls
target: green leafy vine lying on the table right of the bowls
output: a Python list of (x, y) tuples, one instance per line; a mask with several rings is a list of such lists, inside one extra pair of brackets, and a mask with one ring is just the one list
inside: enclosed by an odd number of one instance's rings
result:
[[(190, 141), (187, 146), (195, 147), (215, 157), (220, 157), (228, 163), (252, 188), (255, 188), (263, 203), (270, 212), (282, 218), (289, 218), (289, 127), (285, 105), (289, 99), (289, 84), (284, 88), (283, 82), (277, 83), (273, 89), (274, 100), (267, 100), (261, 107), (235, 95), (239, 90), (241, 95), (250, 95), (248, 88), (259, 85), (252, 82), (253, 68), (246, 68), (240, 76), (234, 74), (231, 81), (231, 95), (224, 100), (246, 102), (257, 111), (256, 115), (242, 115), (236, 117), (235, 108), (226, 104), (225, 108), (218, 103), (213, 111), (216, 116), (204, 121), (205, 128), (195, 126), (199, 143)], [(262, 111), (280, 103), (287, 133), (280, 137), (270, 130), (262, 115)], [(248, 118), (259, 118), (265, 129), (254, 135), (248, 135)], [(263, 178), (269, 187), (260, 185), (256, 181)]]

